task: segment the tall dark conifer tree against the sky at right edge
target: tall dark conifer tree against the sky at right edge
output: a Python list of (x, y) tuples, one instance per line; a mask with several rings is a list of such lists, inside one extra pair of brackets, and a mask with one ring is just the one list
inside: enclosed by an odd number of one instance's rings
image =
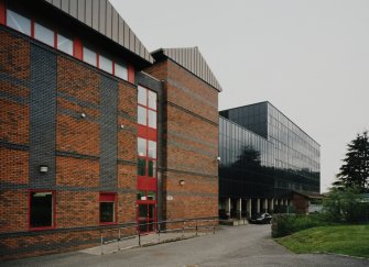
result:
[(360, 192), (369, 191), (369, 136), (368, 132), (358, 134), (347, 145), (344, 165), (339, 168), (336, 187), (359, 188)]

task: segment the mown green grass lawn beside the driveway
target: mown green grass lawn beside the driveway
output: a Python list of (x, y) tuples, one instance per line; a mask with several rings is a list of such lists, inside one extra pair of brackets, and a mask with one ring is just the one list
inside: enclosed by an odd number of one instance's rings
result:
[(319, 226), (275, 241), (294, 253), (337, 253), (369, 258), (369, 224)]

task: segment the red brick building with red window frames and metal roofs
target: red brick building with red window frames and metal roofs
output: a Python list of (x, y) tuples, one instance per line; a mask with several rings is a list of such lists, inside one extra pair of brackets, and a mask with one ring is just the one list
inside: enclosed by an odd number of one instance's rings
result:
[(107, 1), (0, 0), (0, 258), (218, 215), (218, 92)]

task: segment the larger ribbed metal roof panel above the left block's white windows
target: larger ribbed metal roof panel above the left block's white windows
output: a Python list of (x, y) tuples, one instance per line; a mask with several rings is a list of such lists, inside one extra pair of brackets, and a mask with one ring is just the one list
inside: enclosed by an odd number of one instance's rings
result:
[(151, 54), (108, 0), (44, 0), (111, 41), (153, 63)]

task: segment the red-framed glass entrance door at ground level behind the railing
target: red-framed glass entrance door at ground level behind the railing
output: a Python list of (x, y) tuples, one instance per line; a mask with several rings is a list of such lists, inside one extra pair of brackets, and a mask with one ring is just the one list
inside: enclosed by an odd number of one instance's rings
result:
[(142, 202), (138, 203), (139, 231), (141, 233), (153, 232), (156, 230), (155, 204), (154, 203), (142, 203)]

